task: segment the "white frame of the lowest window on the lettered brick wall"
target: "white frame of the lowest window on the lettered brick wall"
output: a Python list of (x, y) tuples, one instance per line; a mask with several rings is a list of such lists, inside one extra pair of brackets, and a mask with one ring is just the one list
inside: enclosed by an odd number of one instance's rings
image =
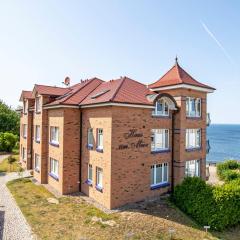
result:
[[(161, 168), (161, 180), (157, 182), (157, 168)], [(153, 183), (152, 183), (152, 169), (153, 169)], [(165, 180), (165, 171), (167, 171), (167, 179)], [(159, 163), (151, 166), (151, 187), (155, 187), (164, 183), (169, 183), (169, 163)]]

